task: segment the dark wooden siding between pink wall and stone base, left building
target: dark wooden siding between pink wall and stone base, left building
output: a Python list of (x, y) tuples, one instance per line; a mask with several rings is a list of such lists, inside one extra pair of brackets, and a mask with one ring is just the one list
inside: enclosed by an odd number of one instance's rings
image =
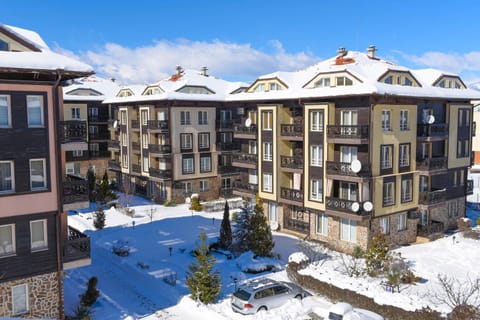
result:
[[(30, 221), (47, 219), (48, 250), (31, 252)], [(16, 255), (0, 258), (2, 281), (44, 274), (57, 270), (55, 213), (38, 213), (0, 219), (0, 225), (15, 224)]]

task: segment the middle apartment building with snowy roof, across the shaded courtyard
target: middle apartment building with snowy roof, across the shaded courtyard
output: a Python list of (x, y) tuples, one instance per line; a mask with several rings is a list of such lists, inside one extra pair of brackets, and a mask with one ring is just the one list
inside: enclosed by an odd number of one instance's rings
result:
[(176, 71), (151, 85), (122, 87), (104, 101), (113, 114), (109, 169), (121, 190), (158, 202), (230, 196), (238, 113), (225, 100), (242, 84), (210, 76), (206, 68)]

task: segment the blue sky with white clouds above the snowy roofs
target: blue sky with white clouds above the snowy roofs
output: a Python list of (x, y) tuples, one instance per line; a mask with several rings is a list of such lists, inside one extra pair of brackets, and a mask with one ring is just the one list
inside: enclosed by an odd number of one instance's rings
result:
[(253, 80), (330, 58), (339, 47), (480, 81), (476, 0), (2, 0), (0, 23), (38, 32), (54, 50), (124, 83), (206, 65)]

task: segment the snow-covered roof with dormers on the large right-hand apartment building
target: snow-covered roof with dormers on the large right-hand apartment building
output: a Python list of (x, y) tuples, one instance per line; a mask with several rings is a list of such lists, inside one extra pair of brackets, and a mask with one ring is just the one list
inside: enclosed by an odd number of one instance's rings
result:
[[(392, 85), (379, 80), (389, 72), (405, 73), (413, 76), (418, 86)], [(345, 73), (355, 79), (349, 86), (312, 87), (308, 84), (320, 75)], [(294, 72), (274, 72), (258, 77), (256, 81), (277, 78), (288, 87), (285, 90), (265, 92), (244, 92), (231, 95), (229, 101), (243, 100), (282, 100), (297, 98), (328, 98), (352, 95), (398, 95), (418, 98), (445, 98), (474, 100), (480, 98), (480, 92), (472, 89), (450, 89), (434, 86), (440, 76), (458, 75), (434, 69), (415, 70), (396, 65), (366, 53), (348, 51), (345, 55), (335, 56), (310, 67)]]

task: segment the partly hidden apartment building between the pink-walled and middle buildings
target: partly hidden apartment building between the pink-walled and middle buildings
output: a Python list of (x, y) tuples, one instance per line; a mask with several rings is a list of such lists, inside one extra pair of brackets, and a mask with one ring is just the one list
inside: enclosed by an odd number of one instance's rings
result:
[(87, 150), (68, 151), (66, 154), (66, 174), (85, 177), (91, 168), (97, 177), (109, 173), (110, 151), (110, 106), (104, 104), (107, 98), (114, 97), (120, 89), (115, 79), (102, 79), (89, 76), (72, 81), (63, 89), (65, 120), (80, 120), (87, 124)]

